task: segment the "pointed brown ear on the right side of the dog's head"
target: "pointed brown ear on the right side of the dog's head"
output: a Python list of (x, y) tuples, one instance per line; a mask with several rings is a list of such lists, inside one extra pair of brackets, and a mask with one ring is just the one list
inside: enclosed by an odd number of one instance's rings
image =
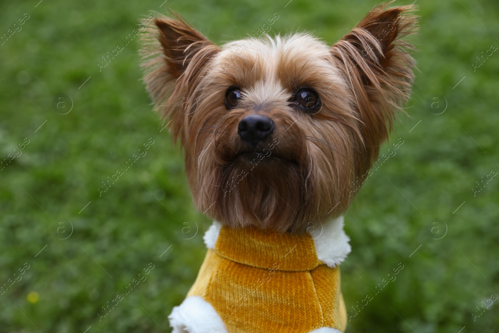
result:
[[(414, 79), (414, 47), (400, 38), (417, 32), (413, 5), (374, 7), (331, 47), (334, 62), (343, 72), (363, 122), (367, 163), (378, 156), (396, 110), (409, 99)], [(387, 124), (388, 123), (388, 124)]]

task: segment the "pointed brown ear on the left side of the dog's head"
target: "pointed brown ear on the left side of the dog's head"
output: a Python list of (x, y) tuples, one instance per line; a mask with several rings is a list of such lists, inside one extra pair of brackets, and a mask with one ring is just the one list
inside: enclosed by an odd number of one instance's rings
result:
[(143, 19), (140, 51), (144, 82), (163, 118), (172, 120), (174, 138), (184, 130), (186, 114), (194, 104), (193, 92), (206, 70), (206, 63), (220, 48), (172, 11), (176, 19), (155, 13)]

